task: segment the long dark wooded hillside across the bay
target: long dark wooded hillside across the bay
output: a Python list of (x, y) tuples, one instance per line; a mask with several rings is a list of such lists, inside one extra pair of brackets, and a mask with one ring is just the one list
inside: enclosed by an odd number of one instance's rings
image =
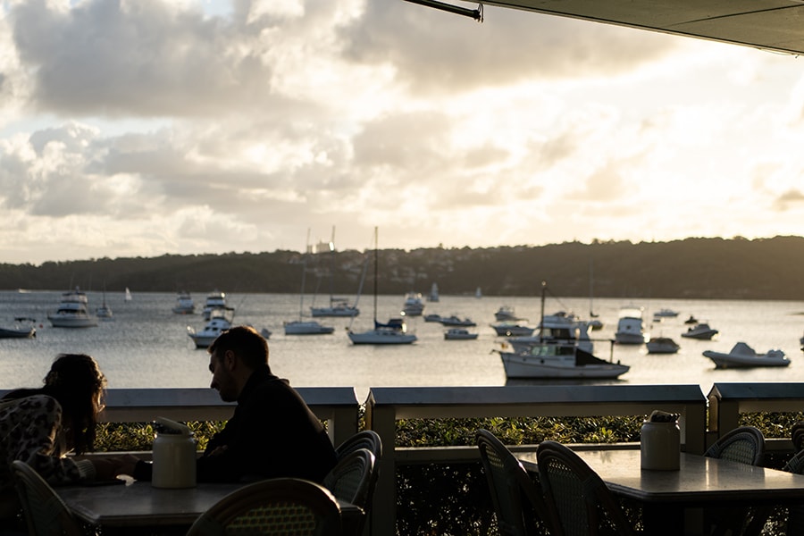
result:
[[(310, 255), (306, 291), (356, 294), (373, 251)], [(138, 292), (298, 292), (305, 258), (292, 251), (226, 255), (163, 255), (0, 264), (0, 289)], [(334, 277), (330, 282), (330, 267)], [(381, 294), (537, 296), (541, 281), (564, 297), (690, 297), (804, 300), (804, 238), (684, 239), (673, 242), (570, 242), (541, 247), (422, 248), (380, 251)], [(364, 294), (373, 289), (368, 265)]]

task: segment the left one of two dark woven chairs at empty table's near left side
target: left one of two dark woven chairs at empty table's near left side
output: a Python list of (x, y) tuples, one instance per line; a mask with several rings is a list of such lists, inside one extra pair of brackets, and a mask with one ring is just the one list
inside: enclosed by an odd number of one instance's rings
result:
[(478, 430), (476, 439), (499, 533), (556, 535), (539, 484), (533, 482), (516, 456), (488, 430)]

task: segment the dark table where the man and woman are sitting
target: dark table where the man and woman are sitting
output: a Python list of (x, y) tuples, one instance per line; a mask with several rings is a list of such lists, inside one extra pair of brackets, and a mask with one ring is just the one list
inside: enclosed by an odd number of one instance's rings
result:
[[(112, 532), (141, 534), (143, 529), (186, 530), (197, 517), (242, 483), (198, 482), (195, 488), (165, 490), (150, 482), (54, 488), (73, 515)], [(338, 501), (344, 523), (362, 517), (363, 509)]]

